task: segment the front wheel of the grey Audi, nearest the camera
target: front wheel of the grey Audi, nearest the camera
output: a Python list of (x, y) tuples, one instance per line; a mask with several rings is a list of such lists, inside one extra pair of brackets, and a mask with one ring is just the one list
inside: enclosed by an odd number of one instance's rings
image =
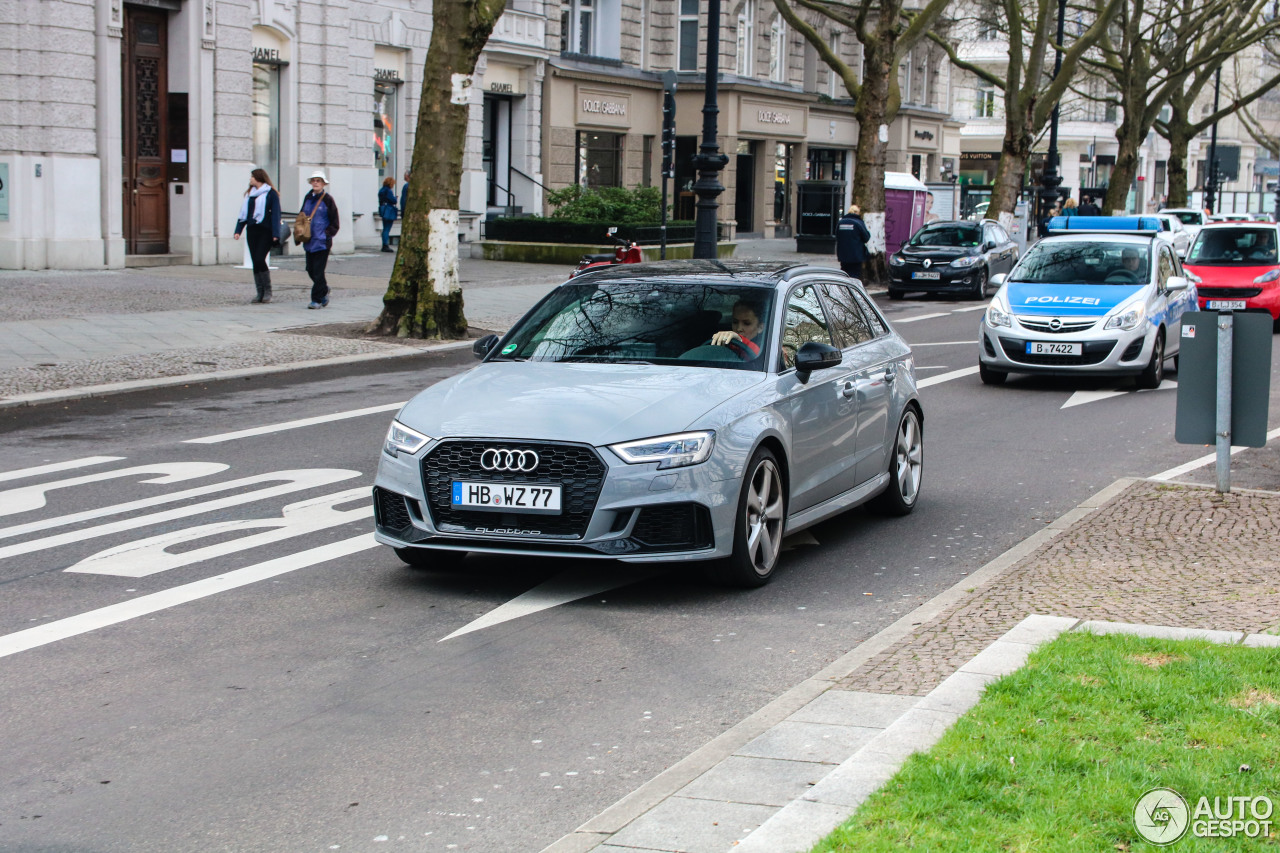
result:
[(753, 589), (769, 583), (782, 553), (787, 496), (782, 469), (767, 447), (751, 456), (737, 497), (733, 553), (708, 566), (708, 576), (726, 587)]

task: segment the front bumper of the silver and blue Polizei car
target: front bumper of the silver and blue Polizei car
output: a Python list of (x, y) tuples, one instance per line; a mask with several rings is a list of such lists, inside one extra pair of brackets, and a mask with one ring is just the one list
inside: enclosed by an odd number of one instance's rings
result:
[[(978, 321), (978, 360), (1001, 373), (1038, 373), (1053, 375), (1137, 375), (1151, 361), (1158, 329), (1144, 324), (1137, 329), (1102, 329), (1105, 318), (1093, 328), (1065, 334), (1043, 333), (1023, 327), (1014, 318), (1012, 327), (992, 327), (983, 315)], [(1029, 341), (1083, 345), (1079, 356), (1027, 355)]]

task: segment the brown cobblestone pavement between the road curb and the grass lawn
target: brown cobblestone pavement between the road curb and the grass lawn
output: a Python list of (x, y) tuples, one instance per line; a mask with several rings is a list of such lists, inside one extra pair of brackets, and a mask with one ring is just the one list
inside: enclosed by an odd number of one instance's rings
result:
[(1203, 485), (1135, 482), (837, 686), (928, 693), (1030, 613), (1277, 629), (1280, 492), (1219, 494)]

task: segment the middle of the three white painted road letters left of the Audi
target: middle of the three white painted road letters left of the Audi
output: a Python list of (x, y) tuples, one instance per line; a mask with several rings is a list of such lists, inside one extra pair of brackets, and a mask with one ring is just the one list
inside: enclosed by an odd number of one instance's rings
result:
[[(186, 494), (193, 496), (193, 493), (207, 493), (211, 491), (234, 489), (253, 483), (287, 480), (282, 485), (273, 485), (270, 488), (259, 489), (256, 492), (232, 494), (229, 497), (218, 498), (215, 501), (205, 501), (204, 503), (193, 503), (191, 506), (165, 510), (163, 512), (152, 512), (151, 515), (140, 515), (132, 519), (111, 521), (110, 524), (100, 524), (96, 528), (84, 528), (83, 530), (68, 530), (65, 533), (59, 533), (56, 535), (6, 546), (4, 548), (0, 548), (0, 560), (4, 560), (5, 557), (15, 557), (23, 553), (45, 551), (47, 548), (56, 548), (59, 546), (70, 544), (73, 542), (83, 542), (86, 539), (105, 537), (113, 533), (120, 533), (123, 530), (136, 530), (137, 528), (143, 528), (148, 524), (161, 524), (164, 521), (172, 521), (174, 519), (186, 519), (192, 515), (200, 515), (201, 512), (212, 512), (214, 510), (224, 510), (230, 506), (239, 506), (242, 503), (262, 501), (265, 498), (276, 497), (279, 494), (288, 494), (291, 492), (301, 492), (303, 489), (316, 488), (320, 485), (329, 485), (332, 483), (338, 483), (340, 480), (349, 480), (353, 476), (360, 476), (360, 471), (349, 471), (334, 467), (311, 467), (296, 471), (275, 471), (274, 474), (259, 474), (256, 476), (246, 476), (242, 480), (220, 483), (216, 487), (205, 485), (198, 489), (189, 489)], [(169, 494), (165, 497), (170, 501), (174, 501), (179, 500), (179, 496), (182, 494), (183, 493), (179, 492), (178, 494)], [(156, 502), (156, 500), (151, 498), (150, 502)], [(134, 503), (141, 503), (141, 501), (134, 501)], [(106, 507), (105, 511), (91, 510), (90, 512), (77, 512), (76, 515), (63, 516), (63, 519), (78, 519), (83, 516), (92, 516), (95, 512), (100, 512), (102, 515), (106, 515), (108, 511), (119, 512), (120, 507), (123, 506), (127, 505), (120, 503), (116, 505), (115, 507)], [(59, 521), (59, 519), (50, 519), (49, 521), (35, 521), (32, 524), (18, 525), (15, 528), (5, 528), (4, 530), (0, 530), (0, 537), (18, 535), (15, 530), (19, 529), (23, 529), (24, 533), (29, 533), (31, 529), (61, 526), (59, 524), (52, 524), (55, 521)]]

